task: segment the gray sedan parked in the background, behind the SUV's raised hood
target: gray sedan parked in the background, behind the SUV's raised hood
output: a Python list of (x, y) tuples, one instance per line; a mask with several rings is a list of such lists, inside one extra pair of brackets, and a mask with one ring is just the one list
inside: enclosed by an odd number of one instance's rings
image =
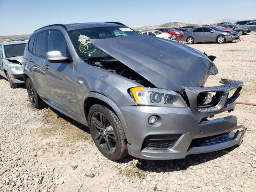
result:
[(188, 42), (188, 44), (193, 44), (194, 42), (217, 42), (222, 44), (234, 39), (235, 37), (231, 32), (221, 30), (215, 26), (198, 27), (194, 30), (184, 32), (182, 38), (182, 40)]

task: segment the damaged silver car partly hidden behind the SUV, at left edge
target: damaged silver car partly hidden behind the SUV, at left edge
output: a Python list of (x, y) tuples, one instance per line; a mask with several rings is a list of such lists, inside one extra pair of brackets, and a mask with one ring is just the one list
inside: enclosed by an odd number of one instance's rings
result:
[(6, 78), (11, 88), (24, 83), (22, 59), (28, 40), (0, 43), (0, 79)]

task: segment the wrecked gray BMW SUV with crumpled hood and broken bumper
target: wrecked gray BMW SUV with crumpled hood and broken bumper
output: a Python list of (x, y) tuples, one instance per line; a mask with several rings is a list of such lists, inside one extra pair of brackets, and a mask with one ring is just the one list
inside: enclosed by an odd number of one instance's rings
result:
[(239, 146), (246, 132), (235, 116), (213, 118), (243, 86), (204, 87), (214, 58), (117, 22), (55, 24), (30, 36), (23, 76), (35, 108), (89, 126), (106, 158), (178, 159)]

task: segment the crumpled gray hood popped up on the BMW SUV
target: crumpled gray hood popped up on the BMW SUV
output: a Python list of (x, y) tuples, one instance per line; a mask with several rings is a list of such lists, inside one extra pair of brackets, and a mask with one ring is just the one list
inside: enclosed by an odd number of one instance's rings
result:
[(90, 39), (90, 42), (116, 58), (157, 88), (178, 91), (180, 86), (204, 86), (214, 63), (199, 51), (182, 43), (149, 35)]

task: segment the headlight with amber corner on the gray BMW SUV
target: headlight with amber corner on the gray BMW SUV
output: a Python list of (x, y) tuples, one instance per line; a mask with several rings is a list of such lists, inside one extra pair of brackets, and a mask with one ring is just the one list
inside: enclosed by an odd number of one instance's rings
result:
[(172, 90), (134, 87), (130, 89), (130, 93), (139, 105), (186, 107), (182, 96)]

